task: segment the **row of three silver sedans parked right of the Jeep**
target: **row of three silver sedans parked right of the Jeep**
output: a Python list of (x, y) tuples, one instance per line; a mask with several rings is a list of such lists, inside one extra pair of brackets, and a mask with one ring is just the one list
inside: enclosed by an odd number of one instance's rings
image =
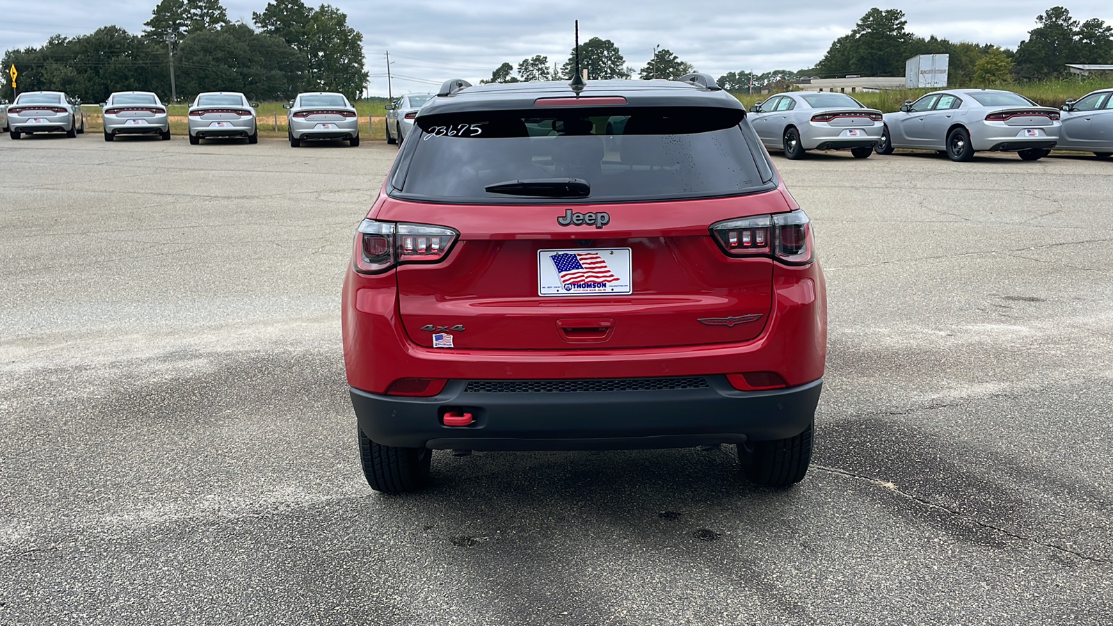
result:
[(1014, 151), (1024, 160), (1052, 149), (1113, 155), (1113, 89), (1041, 107), (997, 89), (947, 89), (908, 100), (883, 114), (846, 94), (792, 91), (750, 108), (750, 121), (766, 148), (790, 159), (808, 150), (850, 150), (857, 158), (897, 148), (934, 150), (965, 162), (977, 151)]

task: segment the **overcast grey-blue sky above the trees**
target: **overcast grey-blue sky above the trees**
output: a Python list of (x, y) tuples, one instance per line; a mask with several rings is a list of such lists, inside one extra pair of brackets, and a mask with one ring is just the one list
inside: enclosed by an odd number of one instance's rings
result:
[[(266, 0), (223, 0), (233, 21), (252, 23)], [(1111, 0), (1066, 0), (1075, 19), (1113, 23)], [(73, 37), (115, 23), (140, 32), (157, 0), (0, 0), (0, 49), (41, 46), (55, 33)], [(314, 4), (313, 0), (307, 4)], [(908, 30), (953, 41), (1015, 48), (1054, 0), (929, 0), (907, 2), (715, 0), (641, 2), (563, 0), (332, 0), (363, 32), (371, 92), (386, 95), (384, 51), (391, 51), (394, 94), (426, 91), (449, 78), (472, 82), (503, 61), (533, 55), (550, 63), (568, 58), (572, 22), (581, 41), (610, 39), (627, 65), (642, 67), (653, 46), (677, 53), (699, 71), (801, 69), (815, 65), (830, 42), (854, 28), (870, 7), (900, 9)], [(45, 7), (49, 6), (49, 10)]]

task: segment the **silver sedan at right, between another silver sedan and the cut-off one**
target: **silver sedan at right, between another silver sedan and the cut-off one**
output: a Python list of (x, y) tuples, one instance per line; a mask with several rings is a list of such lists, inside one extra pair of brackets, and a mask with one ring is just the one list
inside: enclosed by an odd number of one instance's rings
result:
[(910, 148), (969, 160), (974, 153), (988, 150), (1014, 151), (1024, 160), (1036, 160), (1056, 146), (1061, 128), (1058, 109), (1041, 107), (1020, 94), (948, 89), (885, 114), (885, 136), (877, 154)]

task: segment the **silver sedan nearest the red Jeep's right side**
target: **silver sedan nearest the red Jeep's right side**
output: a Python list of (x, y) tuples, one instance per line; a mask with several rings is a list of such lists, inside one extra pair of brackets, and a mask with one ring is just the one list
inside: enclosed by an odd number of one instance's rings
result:
[(850, 150), (855, 158), (867, 158), (881, 139), (881, 111), (846, 94), (777, 94), (750, 111), (750, 125), (766, 148), (792, 159), (807, 150)]

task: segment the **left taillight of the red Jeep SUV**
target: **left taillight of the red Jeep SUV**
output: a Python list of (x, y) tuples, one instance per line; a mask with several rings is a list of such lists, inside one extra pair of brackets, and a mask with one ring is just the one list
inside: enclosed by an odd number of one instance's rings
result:
[(459, 236), (444, 226), (364, 219), (356, 233), (356, 270), (375, 274), (402, 263), (437, 263)]

